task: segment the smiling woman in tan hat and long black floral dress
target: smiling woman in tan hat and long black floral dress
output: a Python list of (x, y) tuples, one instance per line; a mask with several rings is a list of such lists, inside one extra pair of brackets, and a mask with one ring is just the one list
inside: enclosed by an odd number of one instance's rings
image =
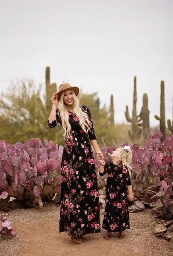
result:
[(86, 234), (100, 232), (97, 177), (90, 141), (97, 159), (103, 160), (90, 110), (79, 105), (78, 94), (78, 87), (61, 84), (59, 92), (54, 92), (51, 98), (48, 119), (50, 128), (59, 122), (64, 130), (59, 232), (65, 231), (75, 244), (80, 244)]

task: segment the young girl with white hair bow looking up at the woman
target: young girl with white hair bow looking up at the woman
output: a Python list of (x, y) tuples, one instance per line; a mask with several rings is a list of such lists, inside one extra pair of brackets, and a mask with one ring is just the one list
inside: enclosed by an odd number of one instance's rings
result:
[[(99, 160), (99, 174), (108, 174), (106, 186), (106, 206), (102, 228), (108, 232), (104, 236), (109, 239), (111, 232), (119, 232), (118, 238), (124, 239), (124, 230), (130, 229), (128, 200), (134, 199), (132, 183), (128, 169), (132, 161), (132, 151), (130, 146), (117, 148), (111, 154), (112, 162), (105, 164), (104, 160)], [(126, 187), (127, 186), (127, 187)], [(128, 188), (128, 194), (127, 194)]]

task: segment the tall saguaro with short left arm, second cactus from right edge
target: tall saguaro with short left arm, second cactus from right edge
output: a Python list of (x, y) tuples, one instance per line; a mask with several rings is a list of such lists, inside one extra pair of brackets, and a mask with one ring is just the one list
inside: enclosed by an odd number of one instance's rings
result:
[(164, 81), (161, 81), (160, 84), (161, 93), (160, 93), (160, 117), (155, 115), (155, 119), (160, 121), (160, 131), (162, 132), (161, 140), (166, 138), (166, 124), (165, 124), (165, 84)]

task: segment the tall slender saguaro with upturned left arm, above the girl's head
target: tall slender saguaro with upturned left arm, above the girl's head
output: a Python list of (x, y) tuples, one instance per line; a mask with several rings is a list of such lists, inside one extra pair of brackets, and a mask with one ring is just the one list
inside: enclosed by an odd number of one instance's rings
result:
[(133, 95), (133, 110), (132, 110), (132, 118), (130, 118), (128, 106), (126, 106), (125, 116), (128, 122), (132, 124), (132, 132), (129, 130), (129, 137), (132, 142), (135, 140), (139, 140), (142, 135), (142, 129), (139, 127), (138, 124), (138, 116), (136, 113), (136, 102), (137, 102), (137, 92), (136, 92), (136, 76), (134, 77), (134, 95)]

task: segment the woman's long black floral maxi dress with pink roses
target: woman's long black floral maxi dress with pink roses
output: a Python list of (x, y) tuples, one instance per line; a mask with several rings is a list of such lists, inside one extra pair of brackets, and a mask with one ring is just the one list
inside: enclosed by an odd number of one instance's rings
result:
[[(92, 118), (88, 106), (80, 106)], [(61, 119), (56, 110), (56, 120), (49, 121), (53, 128)], [(90, 140), (95, 140), (94, 126), (86, 134), (78, 118), (69, 112), (71, 138), (65, 140), (61, 163), (61, 211), (59, 232), (69, 236), (83, 236), (100, 232), (99, 194), (96, 170)]]

